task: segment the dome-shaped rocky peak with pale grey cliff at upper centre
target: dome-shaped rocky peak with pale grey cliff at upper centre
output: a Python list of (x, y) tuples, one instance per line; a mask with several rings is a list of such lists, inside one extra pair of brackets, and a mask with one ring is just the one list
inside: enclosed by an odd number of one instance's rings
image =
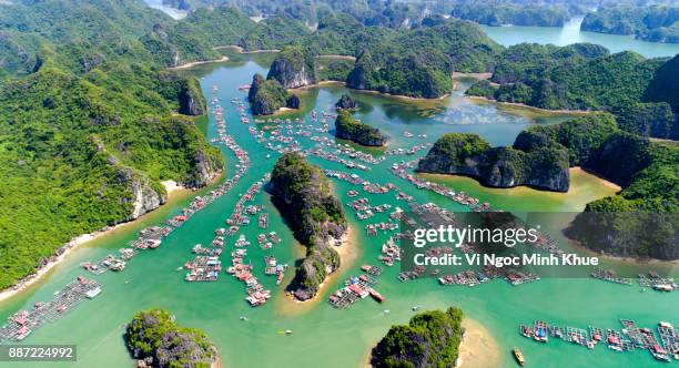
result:
[(296, 89), (316, 83), (313, 58), (300, 45), (287, 45), (268, 69), (267, 80), (274, 79), (284, 89)]

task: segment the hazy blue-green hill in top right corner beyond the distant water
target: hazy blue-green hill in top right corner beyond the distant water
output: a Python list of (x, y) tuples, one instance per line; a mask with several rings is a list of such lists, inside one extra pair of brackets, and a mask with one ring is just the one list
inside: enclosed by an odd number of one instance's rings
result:
[(634, 34), (650, 42), (679, 43), (679, 7), (607, 7), (587, 13), (582, 31)]

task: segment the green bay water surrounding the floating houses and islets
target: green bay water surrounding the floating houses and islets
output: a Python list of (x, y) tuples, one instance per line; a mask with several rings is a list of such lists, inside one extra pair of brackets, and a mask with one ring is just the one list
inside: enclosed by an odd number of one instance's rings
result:
[[(263, 150), (249, 134), (249, 125), (237, 122), (235, 109), (229, 103), (232, 96), (244, 98), (242, 92), (236, 91), (236, 86), (247, 83), (254, 72), (264, 72), (262, 64), (265, 63), (241, 61), (205, 65), (196, 71), (204, 75), (201, 83), (209, 100), (213, 96), (211, 85), (220, 85), (217, 95), (222, 98), (227, 131), (250, 152), (254, 163), (236, 187), (173, 232), (165, 238), (161, 248), (142, 253), (129, 262), (123, 273), (95, 276), (103, 284), (103, 292), (97, 299), (83, 301), (58, 323), (48, 324), (34, 331), (27, 338), (26, 344), (75, 344), (79, 348), (78, 362), (74, 365), (77, 367), (131, 366), (132, 360), (122, 340), (124, 324), (138, 310), (162, 307), (175, 314), (180, 324), (204, 329), (216, 344), (227, 367), (357, 367), (365, 364), (369, 348), (391, 325), (404, 323), (414, 314), (413, 306), (428, 309), (458, 305), (467, 316), (485, 326), (491, 334), (499, 346), (499, 366), (515, 366), (509, 354), (514, 346), (524, 350), (530, 366), (640, 367), (655, 364), (647, 352), (616, 354), (605, 347), (588, 351), (563, 341), (538, 345), (520, 337), (517, 333), (518, 325), (536, 318), (579, 327), (592, 324), (602, 328), (619, 328), (618, 318), (636, 319), (643, 326), (655, 326), (659, 320), (677, 324), (679, 293), (641, 294), (635, 287), (589, 279), (544, 279), (520, 287), (495, 282), (474, 288), (444, 288), (439, 287), (435, 279), (402, 284), (396, 279), (398, 267), (387, 267), (379, 276), (376, 287), (387, 298), (385, 304), (378, 305), (366, 299), (347, 310), (333, 309), (325, 303), (327, 294), (335, 290), (346, 276), (358, 274), (358, 267), (363, 263), (378, 264), (379, 245), (386, 239), (384, 235), (376, 238), (365, 237), (362, 231), (364, 225), (354, 221), (351, 213), (347, 215), (356, 229), (353, 252), (357, 254), (358, 259), (323, 288), (317, 304), (293, 305), (283, 295), (283, 286), (276, 287), (274, 277), (264, 276), (262, 256), (265, 252), (256, 245), (249, 248), (249, 258), (255, 266), (255, 275), (273, 292), (272, 299), (264, 307), (249, 307), (244, 300), (244, 286), (227, 275), (221, 275), (216, 283), (185, 283), (185, 272), (178, 272), (176, 268), (192, 258), (191, 247), (196, 243), (210, 243), (213, 231), (222, 227), (224, 219), (231, 214), (237, 194), (243, 193), (263, 173), (271, 171), (275, 162), (276, 154), (266, 159), (270, 152)], [(303, 93), (304, 109), (330, 111), (343, 91), (343, 88), (336, 85), (308, 90)], [(452, 98), (438, 103), (405, 103), (375, 94), (351, 92), (362, 108), (357, 115), (389, 134), (392, 147), (409, 146), (423, 141), (405, 139), (402, 134), (404, 130), (414, 134), (426, 133), (427, 140), (432, 142), (444, 132), (476, 132), (495, 145), (509, 144), (519, 131), (530, 124), (547, 124), (566, 119), (535, 119), (530, 112), (519, 113), (516, 109), (476, 103), (460, 98), (459, 93), (457, 91)], [(215, 127), (211, 120), (209, 137), (213, 136)], [(423, 153), (424, 151), (420, 154)], [(230, 159), (232, 157), (227, 154), (227, 160)], [(388, 166), (397, 160), (401, 157), (392, 157), (361, 175), (374, 182), (393, 182), (407, 190), (420, 203), (435, 202), (453, 211), (462, 209), (459, 205), (439, 195), (418, 192), (409, 183), (393, 176)], [(316, 157), (311, 161), (323, 167), (342, 168)], [(233, 163), (233, 160), (230, 160), (230, 163)], [(231, 168), (227, 167), (227, 172)], [(574, 180), (574, 192), (570, 194), (543, 193), (526, 188), (494, 191), (480, 187), (469, 180), (454, 178), (448, 183), (456, 190), (465, 190), (483, 201), (490, 202), (497, 208), (518, 211), (579, 211), (585, 203), (614, 192), (591, 175), (577, 175)], [(343, 201), (347, 201), (346, 192), (355, 188), (344, 182), (335, 181), (334, 184)], [(392, 203), (403, 206), (403, 203), (393, 200), (392, 194), (367, 196), (373, 205)], [(54, 290), (83, 274), (79, 267), (81, 262), (99, 259), (116, 251), (133, 238), (136, 231), (176, 213), (188, 201), (189, 198), (173, 203), (160, 212), (152, 213), (140, 224), (121, 228), (111, 236), (79, 249), (44, 282), (1, 303), (0, 318), (3, 319), (20, 308), (29, 308), (36, 300), (49, 299)], [(262, 194), (257, 202), (263, 203), (271, 214), (270, 231), (275, 229), (283, 238), (282, 244), (266, 253), (294, 264), (301, 251), (300, 246), (295, 245), (291, 233), (276, 215), (268, 196)], [(378, 214), (369, 222), (383, 221), (386, 216), (387, 214)], [(245, 231), (253, 243), (257, 233), (257, 228), (253, 226)], [(231, 242), (227, 244), (232, 247)], [(229, 262), (227, 252), (222, 260)], [(286, 280), (291, 278), (291, 274), (288, 273)], [(389, 309), (391, 313), (385, 314), (384, 309)], [(247, 316), (250, 320), (241, 321), (239, 316)], [(286, 329), (293, 330), (293, 335), (280, 334)]]

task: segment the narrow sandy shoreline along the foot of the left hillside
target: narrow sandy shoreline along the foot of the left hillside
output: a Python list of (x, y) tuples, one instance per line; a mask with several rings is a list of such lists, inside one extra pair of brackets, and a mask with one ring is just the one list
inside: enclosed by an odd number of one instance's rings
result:
[[(161, 182), (163, 184), (163, 186), (165, 187), (165, 192), (168, 194), (168, 198), (165, 201), (164, 204), (168, 204), (168, 202), (171, 198), (175, 198), (178, 196), (180, 196), (180, 194), (182, 193), (189, 193), (191, 192), (191, 190), (185, 188), (181, 185), (178, 185), (176, 182), (174, 181), (164, 181)], [(160, 205), (158, 208), (162, 207), (164, 204)], [(47, 276), (52, 269), (54, 269), (58, 265), (60, 265), (70, 254), (72, 254), (73, 252), (80, 249), (80, 247), (82, 245), (85, 245), (90, 242), (93, 242), (98, 238), (101, 238), (105, 235), (112, 234), (115, 231), (126, 227), (126, 226), (132, 226), (143, 219), (145, 219), (148, 214), (153, 213), (155, 209), (153, 211), (149, 211), (145, 214), (131, 219), (131, 221), (126, 221), (126, 222), (122, 222), (119, 224), (115, 224), (113, 226), (104, 226), (100, 229), (97, 229), (94, 232), (91, 233), (87, 233), (87, 234), (80, 234), (73, 238), (71, 238), (69, 242), (67, 242), (64, 245), (62, 245), (61, 247), (57, 248), (54, 251), (54, 253), (47, 257), (47, 259), (49, 259), (45, 264), (39, 266), (38, 268), (36, 268), (36, 270), (23, 277), (22, 279), (20, 279), (19, 282), (17, 282), (14, 285), (0, 290), (0, 301), (4, 301), (18, 294), (20, 294), (21, 292), (26, 290), (27, 288), (29, 288), (30, 286), (34, 285), (36, 283), (38, 283), (39, 280), (43, 279), (44, 276)]]

